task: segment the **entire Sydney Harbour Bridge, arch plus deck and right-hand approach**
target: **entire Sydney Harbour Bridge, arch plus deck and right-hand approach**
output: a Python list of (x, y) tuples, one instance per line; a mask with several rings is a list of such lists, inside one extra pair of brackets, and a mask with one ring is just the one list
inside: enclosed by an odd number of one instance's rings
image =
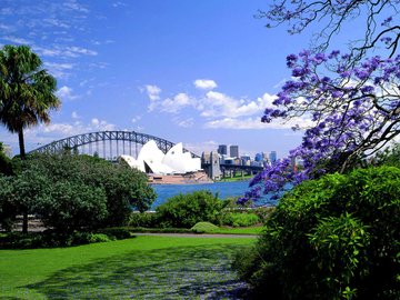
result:
[[(39, 147), (30, 153), (61, 153), (62, 151), (76, 151), (81, 154), (97, 156), (106, 160), (116, 161), (121, 154), (129, 154), (138, 158), (143, 144), (148, 141), (156, 141), (157, 147), (167, 153), (176, 143), (154, 136), (140, 133), (136, 131), (98, 131), (68, 137), (58, 141), (52, 141), (46, 146)], [(192, 158), (200, 156), (190, 152)], [(202, 168), (207, 169), (208, 163), (202, 163)], [(261, 167), (238, 166), (238, 164), (220, 164), (223, 170), (243, 170), (247, 172), (261, 171)]]

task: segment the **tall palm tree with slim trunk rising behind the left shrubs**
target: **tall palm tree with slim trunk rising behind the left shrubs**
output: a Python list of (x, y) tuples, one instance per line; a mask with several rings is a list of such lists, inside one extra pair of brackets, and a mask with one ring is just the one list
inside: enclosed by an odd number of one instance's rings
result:
[[(0, 50), (0, 123), (18, 133), (21, 159), (26, 158), (23, 130), (49, 123), (49, 111), (61, 104), (56, 89), (56, 79), (29, 47), (8, 44)], [(28, 231), (27, 211), (22, 230)]]

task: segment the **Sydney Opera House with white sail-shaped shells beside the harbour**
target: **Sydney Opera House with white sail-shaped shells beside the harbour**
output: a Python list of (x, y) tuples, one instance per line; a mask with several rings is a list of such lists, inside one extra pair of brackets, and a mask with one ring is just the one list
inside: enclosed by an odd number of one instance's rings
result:
[(209, 181), (201, 170), (200, 158), (183, 152), (182, 143), (173, 146), (166, 154), (150, 140), (141, 148), (138, 159), (121, 156), (120, 159), (131, 168), (149, 176), (152, 183), (197, 183)]

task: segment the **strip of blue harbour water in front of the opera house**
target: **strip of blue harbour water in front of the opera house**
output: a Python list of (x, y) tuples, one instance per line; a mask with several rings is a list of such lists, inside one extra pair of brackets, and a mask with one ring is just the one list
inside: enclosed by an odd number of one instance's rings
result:
[[(157, 192), (157, 199), (151, 206), (154, 210), (158, 206), (166, 202), (167, 199), (179, 194), (189, 193), (199, 190), (209, 190), (213, 194), (218, 193), (218, 198), (226, 199), (228, 197), (242, 197), (249, 190), (249, 181), (233, 181), (233, 182), (214, 182), (201, 184), (153, 184), (152, 188)], [(266, 197), (258, 204), (276, 204)]]

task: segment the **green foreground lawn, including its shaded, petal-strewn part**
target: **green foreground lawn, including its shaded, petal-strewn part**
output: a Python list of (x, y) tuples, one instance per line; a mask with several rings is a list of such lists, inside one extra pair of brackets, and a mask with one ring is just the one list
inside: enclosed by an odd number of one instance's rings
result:
[(137, 237), (0, 250), (0, 299), (240, 299), (243, 283), (230, 270), (230, 258), (254, 241)]

